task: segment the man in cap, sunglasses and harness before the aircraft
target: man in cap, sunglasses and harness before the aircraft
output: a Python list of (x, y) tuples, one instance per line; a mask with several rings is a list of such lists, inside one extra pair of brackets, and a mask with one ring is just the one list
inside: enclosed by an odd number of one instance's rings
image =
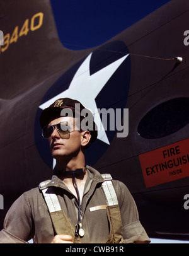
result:
[(127, 187), (86, 166), (97, 137), (93, 115), (70, 98), (43, 110), (40, 125), (56, 160), (52, 180), (9, 209), (0, 243), (149, 243)]

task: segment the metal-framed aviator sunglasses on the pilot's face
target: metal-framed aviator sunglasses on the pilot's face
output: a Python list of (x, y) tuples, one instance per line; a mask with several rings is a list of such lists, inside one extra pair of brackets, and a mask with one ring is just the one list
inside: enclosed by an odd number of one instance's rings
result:
[(71, 124), (69, 122), (60, 122), (59, 124), (47, 125), (42, 129), (42, 136), (44, 139), (48, 139), (51, 136), (52, 132), (54, 132), (54, 129), (57, 129), (57, 132), (59, 132), (59, 135), (62, 139), (69, 139), (70, 132), (77, 131), (71, 131), (71, 125), (74, 124)]

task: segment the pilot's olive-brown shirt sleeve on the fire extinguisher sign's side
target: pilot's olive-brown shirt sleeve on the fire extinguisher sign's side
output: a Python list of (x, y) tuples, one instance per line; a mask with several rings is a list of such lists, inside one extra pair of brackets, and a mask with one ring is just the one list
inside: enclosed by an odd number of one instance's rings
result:
[(151, 240), (139, 221), (139, 212), (129, 189), (122, 182), (115, 182), (115, 190), (120, 206), (125, 243), (150, 243)]

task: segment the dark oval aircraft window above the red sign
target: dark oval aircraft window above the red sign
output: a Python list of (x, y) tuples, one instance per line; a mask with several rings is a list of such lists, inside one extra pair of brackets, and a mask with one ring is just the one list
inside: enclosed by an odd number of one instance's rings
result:
[(189, 98), (175, 98), (152, 108), (138, 125), (146, 139), (158, 139), (179, 131), (189, 123)]

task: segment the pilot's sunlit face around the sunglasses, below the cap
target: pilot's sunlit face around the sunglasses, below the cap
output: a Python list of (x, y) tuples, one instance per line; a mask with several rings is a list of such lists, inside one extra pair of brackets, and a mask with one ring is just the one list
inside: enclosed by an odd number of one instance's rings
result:
[(75, 119), (72, 117), (60, 117), (52, 120), (49, 125), (59, 124), (60, 122), (69, 122), (70, 132), (68, 136), (61, 137), (57, 129), (54, 129), (49, 137), (50, 151), (52, 157), (56, 160), (65, 160), (65, 158), (76, 157), (83, 146), (83, 132), (78, 131)]

